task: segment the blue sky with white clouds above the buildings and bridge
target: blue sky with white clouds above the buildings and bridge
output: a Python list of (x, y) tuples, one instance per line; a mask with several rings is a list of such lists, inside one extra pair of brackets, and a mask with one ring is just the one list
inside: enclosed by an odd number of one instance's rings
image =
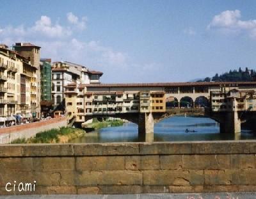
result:
[(0, 43), (102, 71), (102, 83), (186, 82), (256, 67), (256, 1), (1, 1)]

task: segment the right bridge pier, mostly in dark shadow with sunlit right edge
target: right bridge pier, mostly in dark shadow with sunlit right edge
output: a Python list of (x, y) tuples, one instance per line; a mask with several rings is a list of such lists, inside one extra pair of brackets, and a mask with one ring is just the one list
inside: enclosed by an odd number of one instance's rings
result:
[(241, 132), (241, 120), (238, 118), (237, 111), (225, 113), (220, 120), (220, 132), (234, 134)]

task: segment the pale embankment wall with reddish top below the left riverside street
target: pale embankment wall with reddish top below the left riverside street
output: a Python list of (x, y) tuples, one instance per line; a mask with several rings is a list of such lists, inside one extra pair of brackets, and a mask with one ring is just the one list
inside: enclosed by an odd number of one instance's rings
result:
[(0, 144), (11, 143), (18, 138), (31, 138), (38, 132), (67, 126), (67, 118), (52, 118), (40, 122), (25, 123), (0, 129)]

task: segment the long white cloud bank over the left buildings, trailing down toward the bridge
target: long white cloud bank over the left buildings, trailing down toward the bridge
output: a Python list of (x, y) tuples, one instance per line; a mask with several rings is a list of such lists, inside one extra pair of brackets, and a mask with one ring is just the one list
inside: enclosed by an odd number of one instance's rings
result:
[(71, 61), (91, 70), (102, 71), (102, 81), (140, 81), (145, 74), (148, 77), (150, 72), (154, 74), (155, 64), (134, 63), (126, 53), (102, 45), (97, 40), (78, 39), (85, 25), (85, 17), (79, 18), (72, 13), (67, 13), (67, 24), (64, 25), (42, 16), (33, 26), (0, 27), (0, 43), (12, 45), (15, 42), (31, 42), (41, 47), (41, 58)]

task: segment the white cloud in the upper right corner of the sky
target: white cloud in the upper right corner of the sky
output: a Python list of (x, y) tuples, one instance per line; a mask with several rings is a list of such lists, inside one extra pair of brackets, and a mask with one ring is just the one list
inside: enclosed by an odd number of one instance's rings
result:
[(207, 29), (219, 29), (222, 33), (246, 33), (256, 39), (256, 20), (240, 20), (239, 10), (226, 10), (215, 15)]

